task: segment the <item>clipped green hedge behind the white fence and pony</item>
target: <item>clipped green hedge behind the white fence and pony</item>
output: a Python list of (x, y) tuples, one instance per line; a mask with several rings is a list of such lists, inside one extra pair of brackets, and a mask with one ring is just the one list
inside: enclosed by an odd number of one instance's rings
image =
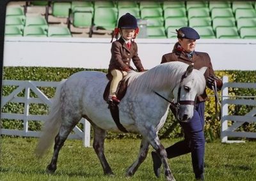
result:
[[(107, 72), (107, 69), (83, 69), (83, 68), (42, 68), (42, 67), (4, 67), (3, 68), (3, 80), (32, 80), (32, 81), (56, 81), (59, 82), (63, 78), (68, 78), (70, 75), (76, 73), (77, 71), (102, 71)], [(222, 77), (224, 75), (228, 76), (229, 82), (255, 82), (256, 71), (216, 71), (216, 75)], [(3, 87), (2, 95), (8, 95), (15, 89), (15, 87)], [(47, 94), (47, 96), (54, 96), (54, 89), (45, 88), (42, 91)], [(237, 96), (255, 96), (255, 89), (229, 89), (230, 94)], [(207, 93), (212, 95), (213, 92), (207, 89)], [(20, 94), (24, 94), (21, 92)], [(31, 93), (33, 95), (33, 93)], [(220, 92), (219, 92), (220, 94)], [(47, 106), (35, 104), (31, 105), (29, 113), (33, 114), (47, 114)], [(252, 106), (244, 105), (231, 105), (229, 112), (232, 115), (244, 115), (252, 110)], [(8, 103), (2, 108), (2, 112), (12, 112), (12, 113), (23, 113), (23, 106), (18, 103)], [(1, 120), (1, 127), (21, 129), (22, 120)], [(42, 125), (39, 122), (30, 122), (29, 129), (40, 130)], [(205, 138), (207, 141), (212, 141), (215, 138), (220, 138), (220, 120), (215, 114), (215, 103), (214, 98), (210, 97), (209, 101), (205, 103)], [(241, 131), (253, 131), (256, 132), (256, 124), (243, 124), (239, 127)], [(93, 134), (93, 131), (92, 131)], [(177, 138), (183, 136), (182, 129), (179, 126), (179, 122), (173, 118), (172, 113), (168, 114), (168, 118), (164, 127), (159, 131), (159, 138)], [(116, 134), (108, 132), (107, 138), (137, 138), (140, 137), (138, 134)]]

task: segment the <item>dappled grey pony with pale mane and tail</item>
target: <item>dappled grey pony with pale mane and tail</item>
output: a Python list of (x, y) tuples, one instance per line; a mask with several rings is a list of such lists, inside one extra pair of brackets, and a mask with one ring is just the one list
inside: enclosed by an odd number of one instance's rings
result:
[[(143, 136), (138, 158), (127, 169), (127, 176), (134, 175), (138, 170), (151, 145), (161, 157), (167, 180), (175, 180), (168, 166), (166, 151), (157, 136), (166, 121), (170, 103), (157, 96), (155, 92), (175, 103), (178, 98), (184, 102), (195, 101), (196, 95), (202, 94), (205, 89), (205, 70), (206, 68), (189, 69), (188, 64), (182, 62), (167, 62), (143, 73), (130, 71), (125, 77), (128, 88), (118, 105), (120, 123), (130, 133), (139, 133)], [(120, 130), (116, 127), (108, 104), (102, 97), (107, 83), (105, 73), (81, 71), (63, 80), (58, 86), (49, 118), (45, 122), (43, 134), (36, 147), (36, 154), (42, 156), (55, 141), (52, 160), (47, 166), (48, 173), (54, 173), (56, 170), (58, 154), (63, 143), (74, 126), (84, 117), (93, 127), (93, 148), (103, 171), (106, 175), (113, 175), (104, 155), (104, 139), (107, 130)], [(180, 104), (177, 118), (186, 121), (193, 117), (193, 110), (194, 105)]]

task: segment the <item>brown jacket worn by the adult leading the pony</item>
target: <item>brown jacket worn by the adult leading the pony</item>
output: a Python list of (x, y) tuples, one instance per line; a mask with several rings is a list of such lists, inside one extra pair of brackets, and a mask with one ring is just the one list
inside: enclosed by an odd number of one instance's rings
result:
[[(186, 64), (194, 63), (195, 69), (200, 69), (202, 67), (207, 67), (205, 71), (205, 80), (209, 75), (214, 75), (214, 70), (212, 69), (211, 59), (209, 55), (205, 52), (194, 52), (192, 59), (189, 59), (184, 52), (176, 50), (177, 43), (174, 45), (173, 52), (170, 54), (165, 54), (162, 57), (161, 64), (164, 62), (180, 61)], [(203, 102), (208, 99), (206, 91), (197, 97), (196, 102)]]

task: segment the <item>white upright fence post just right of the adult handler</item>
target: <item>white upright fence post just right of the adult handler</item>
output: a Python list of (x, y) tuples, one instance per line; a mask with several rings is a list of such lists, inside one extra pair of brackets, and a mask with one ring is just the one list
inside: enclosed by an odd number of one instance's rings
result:
[(223, 87), (221, 90), (221, 142), (225, 143), (228, 141), (228, 136), (225, 134), (225, 131), (228, 129), (228, 120), (225, 117), (228, 115), (228, 104), (225, 103), (225, 100), (228, 99), (228, 76), (223, 76)]

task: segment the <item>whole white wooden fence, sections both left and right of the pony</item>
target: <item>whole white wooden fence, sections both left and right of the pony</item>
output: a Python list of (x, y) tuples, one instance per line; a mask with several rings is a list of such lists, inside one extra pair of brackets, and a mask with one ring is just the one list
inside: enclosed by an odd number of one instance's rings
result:
[[(44, 122), (47, 115), (29, 115), (29, 104), (42, 103), (47, 106), (51, 106), (51, 99), (45, 96), (44, 92), (40, 91), (38, 87), (56, 87), (58, 82), (35, 82), (35, 81), (15, 81), (15, 80), (3, 80), (3, 86), (16, 86), (16, 89), (8, 96), (2, 96), (1, 108), (8, 102), (24, 103), (24, 113), (3, 113), (1, 112), (1, 119), (17, 119), (23, 120), (23, 129), (0, 129), (0, 134), (16, 135), (16, 136), (40, 136), (39, 131), (29, 131), (29, 120)], [(223, 89), (221, 91), (221, 142), (233, 143), (239, 142), (235, 140), (228, 140), (228, 137), (238, 138), (256, 138), (256, 133), (245, 133), (236, 131), (244, 122), (256, 123), (256, 108), (253, 108), (246, 115), (228, 115), (229, 105), (249, 105), (256, 106), (255, 99), (241, 99), (244, 96), (230, 96), (228, 95), (228, 88), (245, 88), (256, 89), (256, 83), (234, 83), (228, 82), (227, 76), (223, 76)], [(25, 91), (24, 98), (17, 96), (20, 92)], [(31, 98), (30, 92), (34, 92), (37, 98)], [(245, 96), (246, 97), (246, 96)], [(239, 98), (239, 99), (236, 99)], [(248, 96), (246, 97), (248, 98)], [(255, 98), (255, 96), (253, 97)], [(232, 122), (231, 122), (232, 121)], [(70, 134), (68, 138), (82, 139), (85, 147), (90, 146), (90, 123), (81, 119), (84, 124), (84, 130), (79, 127), (74, 128), (74, 134)]]

